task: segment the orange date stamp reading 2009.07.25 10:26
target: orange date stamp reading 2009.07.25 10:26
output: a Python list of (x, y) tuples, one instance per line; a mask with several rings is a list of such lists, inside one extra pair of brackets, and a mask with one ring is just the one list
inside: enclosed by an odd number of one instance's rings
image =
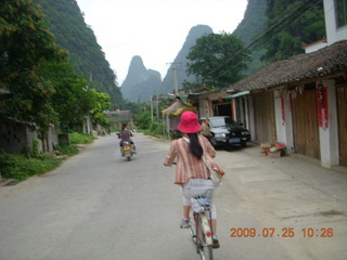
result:
[(264, 227), (257, 230), (256, 227), (232, 227), (230, 229), (230, 237), (333, 237), (333, 227), (304, 227), (295, 230), (294, 227)]

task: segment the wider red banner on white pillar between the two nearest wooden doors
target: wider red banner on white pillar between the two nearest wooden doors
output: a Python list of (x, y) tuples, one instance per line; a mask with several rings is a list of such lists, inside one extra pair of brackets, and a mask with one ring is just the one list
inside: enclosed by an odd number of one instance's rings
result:
[(327, 88), (321, 84), (317, 86), (317, 110), (319, 127), (326, 129), (329, 126)]

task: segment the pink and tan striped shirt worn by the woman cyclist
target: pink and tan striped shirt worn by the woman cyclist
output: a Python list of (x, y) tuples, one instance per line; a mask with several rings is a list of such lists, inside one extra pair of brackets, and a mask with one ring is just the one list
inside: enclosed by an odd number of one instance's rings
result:
[[(203, 147), (205, 158), (216, 156), (215, 148), (208, 140), (198, 135), (198, 142)], [(190, 179), (208, 179), (209, 170), (203, 159), (197, 159), (189, 151), (189, 143), (184, 139), (174, 140), (169, 153), (167, 154), (164, 165), (171, 166), (176, 159), (175, 184), (184, 184)]]

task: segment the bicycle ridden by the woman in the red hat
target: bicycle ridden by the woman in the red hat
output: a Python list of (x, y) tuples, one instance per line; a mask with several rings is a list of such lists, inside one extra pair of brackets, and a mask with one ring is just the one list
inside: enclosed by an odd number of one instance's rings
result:
[[(190, 234), (196, 246), (196, 252), (202, 260), (213, 260), (213, 232), (209, 225), (207, 214), (210, 217), (210, 207), (214, 195), (214, 184), (209, 180), (206, 186), (206, 180), (194, 179), (205, 185), (205, 192), (198, 196), (192, 196), (193, 221), (190, 221)], [(203, 188), (203, 186), (200, 186)], [(207, 190), (206, 190), (207, 188)], [(210, 218), (209, 218), (210, 219)]]

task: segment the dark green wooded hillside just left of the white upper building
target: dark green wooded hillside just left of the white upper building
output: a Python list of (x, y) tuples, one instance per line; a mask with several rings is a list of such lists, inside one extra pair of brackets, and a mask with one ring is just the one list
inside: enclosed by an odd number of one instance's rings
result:
[(261, 44), (268, 62), (304, 53), (303, 46), (325, 37), (322, 0), (268, 0)]

